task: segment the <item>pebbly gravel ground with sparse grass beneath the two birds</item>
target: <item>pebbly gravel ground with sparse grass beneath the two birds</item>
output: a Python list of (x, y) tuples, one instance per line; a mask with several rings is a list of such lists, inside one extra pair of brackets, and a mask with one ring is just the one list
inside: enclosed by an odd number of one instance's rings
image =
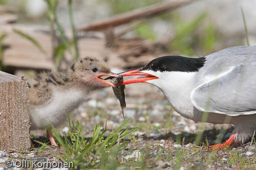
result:
[[(247, 143), (238, 148), (211, 151), (206, 141), (214, 144), (225, 132), (222, 141), (231, 134), (231, 125), (212, 125), (196, 123), (176, 113), (161, 91), (148, 84), (126, 86), (125, 118), (131, 117), (130, 128), (138, 127), (127, 147), (118, 154), (121, 163), (142, 161), (144, 167), (153, 169), (255, 169), (255, 143)], [(123, 122), (119, 101), (111, 88), (91, 95), (81, 107), (71, 114), (86, 127), (87, 137), (92, 137), (94, 125), (103, 129), (105, 121), (107, 133)], [(199, 145), (195, 144), (200, 127), (204, 126)], [(67, 131), (67, 124), (60, 128)], [(33, 132), (33, 140), (47, 141), (45, 132)], [(132, 137), (133, 138), (133, 137)], [(5, 154), (0, 152), (0, 170), (9, 158), (31, 158), (36, 160), (55, 160), (61, 148), (50, 148), (42, 153), (28, 151)], [(143, 158), (143, 159), (142, 159)], [(138, 167), (133, 167), (134, 169)], [(13, 168), (15, 169), (15, 168)], [(122, 169), (122, 167), (120, 167)]]

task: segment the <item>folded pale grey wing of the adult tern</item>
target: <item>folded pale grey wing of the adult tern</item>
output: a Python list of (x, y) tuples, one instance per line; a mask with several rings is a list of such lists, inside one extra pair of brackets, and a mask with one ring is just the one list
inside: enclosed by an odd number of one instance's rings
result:
[(204, 112), (231, 116), (256, 113), (256, 63), (230, 67), (217, 78), (195, 88), (193, 105)]

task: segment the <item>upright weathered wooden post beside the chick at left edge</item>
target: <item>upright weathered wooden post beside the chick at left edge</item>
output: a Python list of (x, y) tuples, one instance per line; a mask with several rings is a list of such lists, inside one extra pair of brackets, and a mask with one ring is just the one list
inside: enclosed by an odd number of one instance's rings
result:
[(0, 71), (0, 150), (30, 148), (28, 85)]

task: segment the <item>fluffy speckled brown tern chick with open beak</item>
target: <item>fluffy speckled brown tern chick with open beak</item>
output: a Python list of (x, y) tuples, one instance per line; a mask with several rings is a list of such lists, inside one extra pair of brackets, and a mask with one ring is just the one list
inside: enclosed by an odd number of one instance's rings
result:
[(98, 89), (113, 86), (102, 76), (118, 76), (110, 72), (105, 62), (82, 58), (70, 64), (66, 71), (38, 74), (29, 82), (30, 130), (47, 130), (52, 145), (57, 145), (51, 126), (58, 127), (88, 95)]

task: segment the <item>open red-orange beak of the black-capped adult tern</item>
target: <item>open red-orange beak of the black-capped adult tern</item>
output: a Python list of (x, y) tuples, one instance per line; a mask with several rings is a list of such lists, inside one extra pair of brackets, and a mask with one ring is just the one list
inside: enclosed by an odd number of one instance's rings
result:
[(139, 72), (139, 69), (134, 69), (134, 70), (130, 70), (130, 71), (121, 72), (118, 75), (120, 75), (122, 77), (124, 77), (124, 76), (137, 76), (137, 75), (145, 76), (145, 77), (140, 77), (140, 78), (135, 78), (135, 79), (124, 80), (120, 85), (131, 84), (131, 83), (146, 83), (146, 81), (148, 81), (148, 80), (158, 79), (158, 77), (153, 76), (151, 74), (147, 74), (145, 72)]

